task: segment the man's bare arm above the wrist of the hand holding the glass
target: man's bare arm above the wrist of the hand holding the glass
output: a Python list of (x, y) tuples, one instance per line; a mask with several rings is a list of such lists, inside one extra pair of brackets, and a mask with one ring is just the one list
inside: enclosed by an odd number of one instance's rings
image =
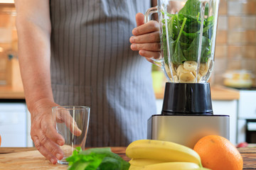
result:
[(31, 108), (33, 103), (43, 98), (53, 100), (50, 86), (50, 19), (43, 13), (45, 11), (30, 11), (28, 5), (26, 10), (31, 15), (24, 13), (22, 8), (25, 7), (18, 6), (16, 18), (18, 57), (26, 102)]

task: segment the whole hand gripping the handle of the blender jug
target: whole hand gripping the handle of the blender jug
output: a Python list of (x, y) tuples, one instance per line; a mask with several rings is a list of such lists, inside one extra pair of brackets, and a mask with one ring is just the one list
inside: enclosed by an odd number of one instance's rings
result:
[(137, 28), (132, 30), (132, 36), (129, 40), (132, 43), (131, 49), (139, 51), (139, 55), (150, 60), (151, 57), (158, 59), (160, 57), (160, 36), (159, 23), (157, 21), (149, 21), (144, 23), (144, 15), (137, 13), (136, 15)]

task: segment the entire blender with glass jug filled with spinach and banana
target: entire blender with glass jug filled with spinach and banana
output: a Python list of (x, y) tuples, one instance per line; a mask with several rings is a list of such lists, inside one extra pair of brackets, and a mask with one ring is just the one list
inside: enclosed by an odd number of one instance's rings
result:
[(210, 84), (219, 0), (158, 0), (161, 56), (151, 58), (166, 79), (161, 114), (148, 120), (147, 138), (193, 148), (206, 135), (229, 140), (229, 116), (214, 115)]

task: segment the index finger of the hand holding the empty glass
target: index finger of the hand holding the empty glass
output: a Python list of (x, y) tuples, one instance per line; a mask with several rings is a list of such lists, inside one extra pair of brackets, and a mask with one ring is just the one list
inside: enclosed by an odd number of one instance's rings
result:
[(43, 132), (45, 132), (45, 135), (53, 142), (57, 143), (60, 146), (64, 145), (64, 138), (57, 132), (56, 128), (52, 124), (46, 121), (42, 121), (41, 130), (43, 130)]

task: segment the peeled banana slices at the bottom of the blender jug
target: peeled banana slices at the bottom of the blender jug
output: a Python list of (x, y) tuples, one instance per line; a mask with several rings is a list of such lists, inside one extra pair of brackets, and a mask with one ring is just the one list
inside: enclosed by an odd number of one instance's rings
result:
[(209, 65), (210, 65), (210, 59), (208, 60), (207, 63), (201, 63), (199, 66), (199, 69), (198, 69), (197, 62), (186, 61), (183, 64), (179, 64), (179, 65), (174, 65), (173, 63), (171, 63), (171, 69), (166, 64), (165, 70), (166, 70), (166, 74), (169, 77), (171, 77), (171, 73), (172, 73), (174, 79), (171, 79), (171, 81), (180, 82), (180, 83), (195, 83), (196, 78), (197, 78), (197, 82), (200, 82), (201, 78), (207, 74)]

